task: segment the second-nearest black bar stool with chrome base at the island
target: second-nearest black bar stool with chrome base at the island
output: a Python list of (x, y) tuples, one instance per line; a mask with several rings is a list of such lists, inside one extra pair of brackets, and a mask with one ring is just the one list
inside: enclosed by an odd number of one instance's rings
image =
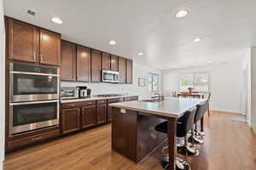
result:
[(191, 136), (189, 137), (189, 143), (192, 144), (203, 144), (204, 139), (203, 136), (205, 133), (199, 131), (197, 129), (197, 122), (199, 122), (207, 111), (207, 101), (201, 102), (201, 104), (197, 105), (197, 110), (195, 112), (195, 127), (191, 130)]

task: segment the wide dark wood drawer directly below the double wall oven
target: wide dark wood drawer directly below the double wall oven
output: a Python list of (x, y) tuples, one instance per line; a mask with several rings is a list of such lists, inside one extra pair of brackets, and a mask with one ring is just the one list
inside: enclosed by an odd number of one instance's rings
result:
[(42, 142), (46, 139), (51, 139), (54, 138), (56, 136), (59, 136), (60, 133), (60, 129), (57, 129), (55, 131), (51, 131), (48, 133), (39, 133), (37, 135), (32, 135), (29, 137), (26, 137), (24, 139), (16, 139), (13, 141), (10, 141), (8, 143), (8, 150), (15, 150), (15, 149), (19, 149), (20, 147), (29, 145), (29, 144), (36, 144), (39, 142)]

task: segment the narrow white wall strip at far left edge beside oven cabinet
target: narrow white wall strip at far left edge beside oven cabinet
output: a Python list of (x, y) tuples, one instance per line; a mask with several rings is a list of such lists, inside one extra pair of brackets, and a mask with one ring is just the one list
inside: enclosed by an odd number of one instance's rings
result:
[(4, 124), (5, 124), (5, 31), (3, 22), (3, 0), (0, 0), (0, 169), (3, 169), (4, 160)]

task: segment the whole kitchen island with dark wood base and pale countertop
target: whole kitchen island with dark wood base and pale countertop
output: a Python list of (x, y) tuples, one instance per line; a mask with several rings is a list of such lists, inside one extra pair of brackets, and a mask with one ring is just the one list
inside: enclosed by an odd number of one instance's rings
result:
[[(138, 100), (111, 104), (112, 150), (136, 163), (168, 139), (170, 169), (175, 169), (177, 119), (206, 99), (171, 98), (162, 102)], [(168, 121), (167, 136), (154, 127)]]

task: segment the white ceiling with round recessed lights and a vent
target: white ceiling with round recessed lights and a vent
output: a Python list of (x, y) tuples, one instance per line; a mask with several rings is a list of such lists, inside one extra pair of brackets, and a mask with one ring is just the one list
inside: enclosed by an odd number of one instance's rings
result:
[[(255, 0), (4, 0), (3, 6), (4, 14), (63, 39), (160, 70), (241, 61), (256, 45)], [(37, 11), (34, 19), (27, 8)], [(179, 9), (189, 14), (177, 19)], [(63, 24), (54, 24), (54, 16)]]

